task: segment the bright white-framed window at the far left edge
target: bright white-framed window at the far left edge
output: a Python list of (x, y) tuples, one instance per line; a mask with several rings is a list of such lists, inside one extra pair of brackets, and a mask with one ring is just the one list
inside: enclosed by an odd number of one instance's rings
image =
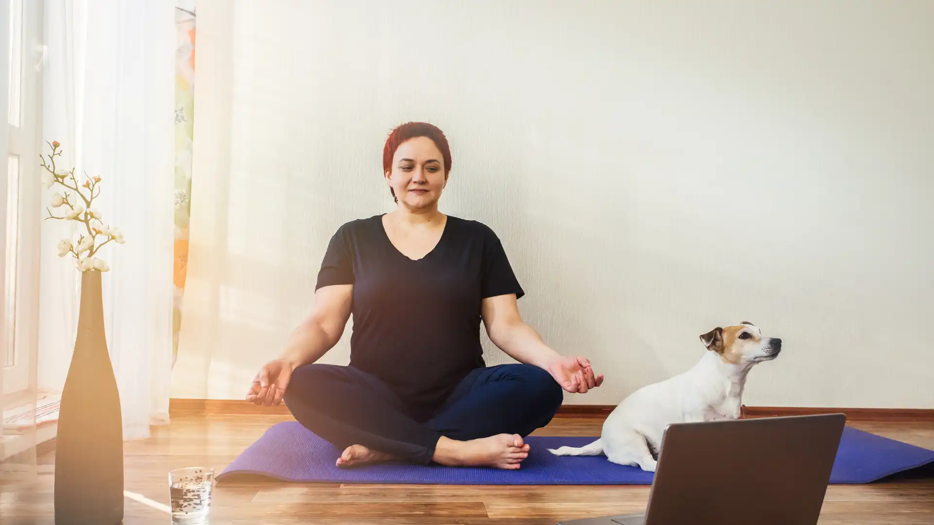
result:
[[(6, 2), (7, 26), (7, 177), (4, 257), (4, 307), (0, 333), (3, 393), (30, 387), (38, 326), (38, 254), (42, 188), (36, 162), (41, 144), (39, 98), (42, 44), (41, 0)], [(0, 163), (3, 169), (3, 163)]]

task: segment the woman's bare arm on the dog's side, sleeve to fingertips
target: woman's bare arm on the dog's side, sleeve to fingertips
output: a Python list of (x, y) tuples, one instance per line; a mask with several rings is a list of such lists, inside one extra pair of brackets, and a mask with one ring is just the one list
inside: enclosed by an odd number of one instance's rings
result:
[(564, 390), (584, 393), (599, 387), (603, 376), (594, 376), (586, 358), (561, 356), (545, 345), (542, 336), (522, 320), (516, 294), (483, 300), (483, 322), (489, 339), (517, 362), (545, 369)]

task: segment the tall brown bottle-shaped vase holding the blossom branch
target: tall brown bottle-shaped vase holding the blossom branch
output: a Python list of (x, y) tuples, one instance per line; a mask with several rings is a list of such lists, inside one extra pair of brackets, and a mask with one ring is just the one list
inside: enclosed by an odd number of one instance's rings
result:
[(62, 390), (55, 445), (56, 525), (123, 519), (120, 393), (107, 353), (101, 272), (81, 273), (78, 336)]

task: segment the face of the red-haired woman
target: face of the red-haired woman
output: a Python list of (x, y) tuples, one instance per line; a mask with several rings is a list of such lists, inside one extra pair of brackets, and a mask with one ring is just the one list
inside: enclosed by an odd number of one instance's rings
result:
[(386, 174), (389, 188), (400, 204), (411, 209), (436, 206), (447, 182), (444, 163), (441, 150), (431, 138), (410, 138), (392, 157), (392, 171)]

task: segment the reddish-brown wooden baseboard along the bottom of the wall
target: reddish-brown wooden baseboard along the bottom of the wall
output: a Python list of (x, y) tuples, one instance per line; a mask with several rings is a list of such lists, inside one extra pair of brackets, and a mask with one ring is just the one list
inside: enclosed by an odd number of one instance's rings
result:
[[(616, 408), (614, 404), (563, 404), (558, 410), (560, 418), (605, 418)], [(934, 421), (934, 409), (927, 408), (818, 408), (806, 406), (746, 406), (743, 418), (774, 416), (804, 416), (812, 414), (846, 414), (851, 421)], [(235, 416), (266, 415), (288, 416), (285, 404), (257, 406), (238, 399), (171, 399), (169, 414), (181, 416)]]

